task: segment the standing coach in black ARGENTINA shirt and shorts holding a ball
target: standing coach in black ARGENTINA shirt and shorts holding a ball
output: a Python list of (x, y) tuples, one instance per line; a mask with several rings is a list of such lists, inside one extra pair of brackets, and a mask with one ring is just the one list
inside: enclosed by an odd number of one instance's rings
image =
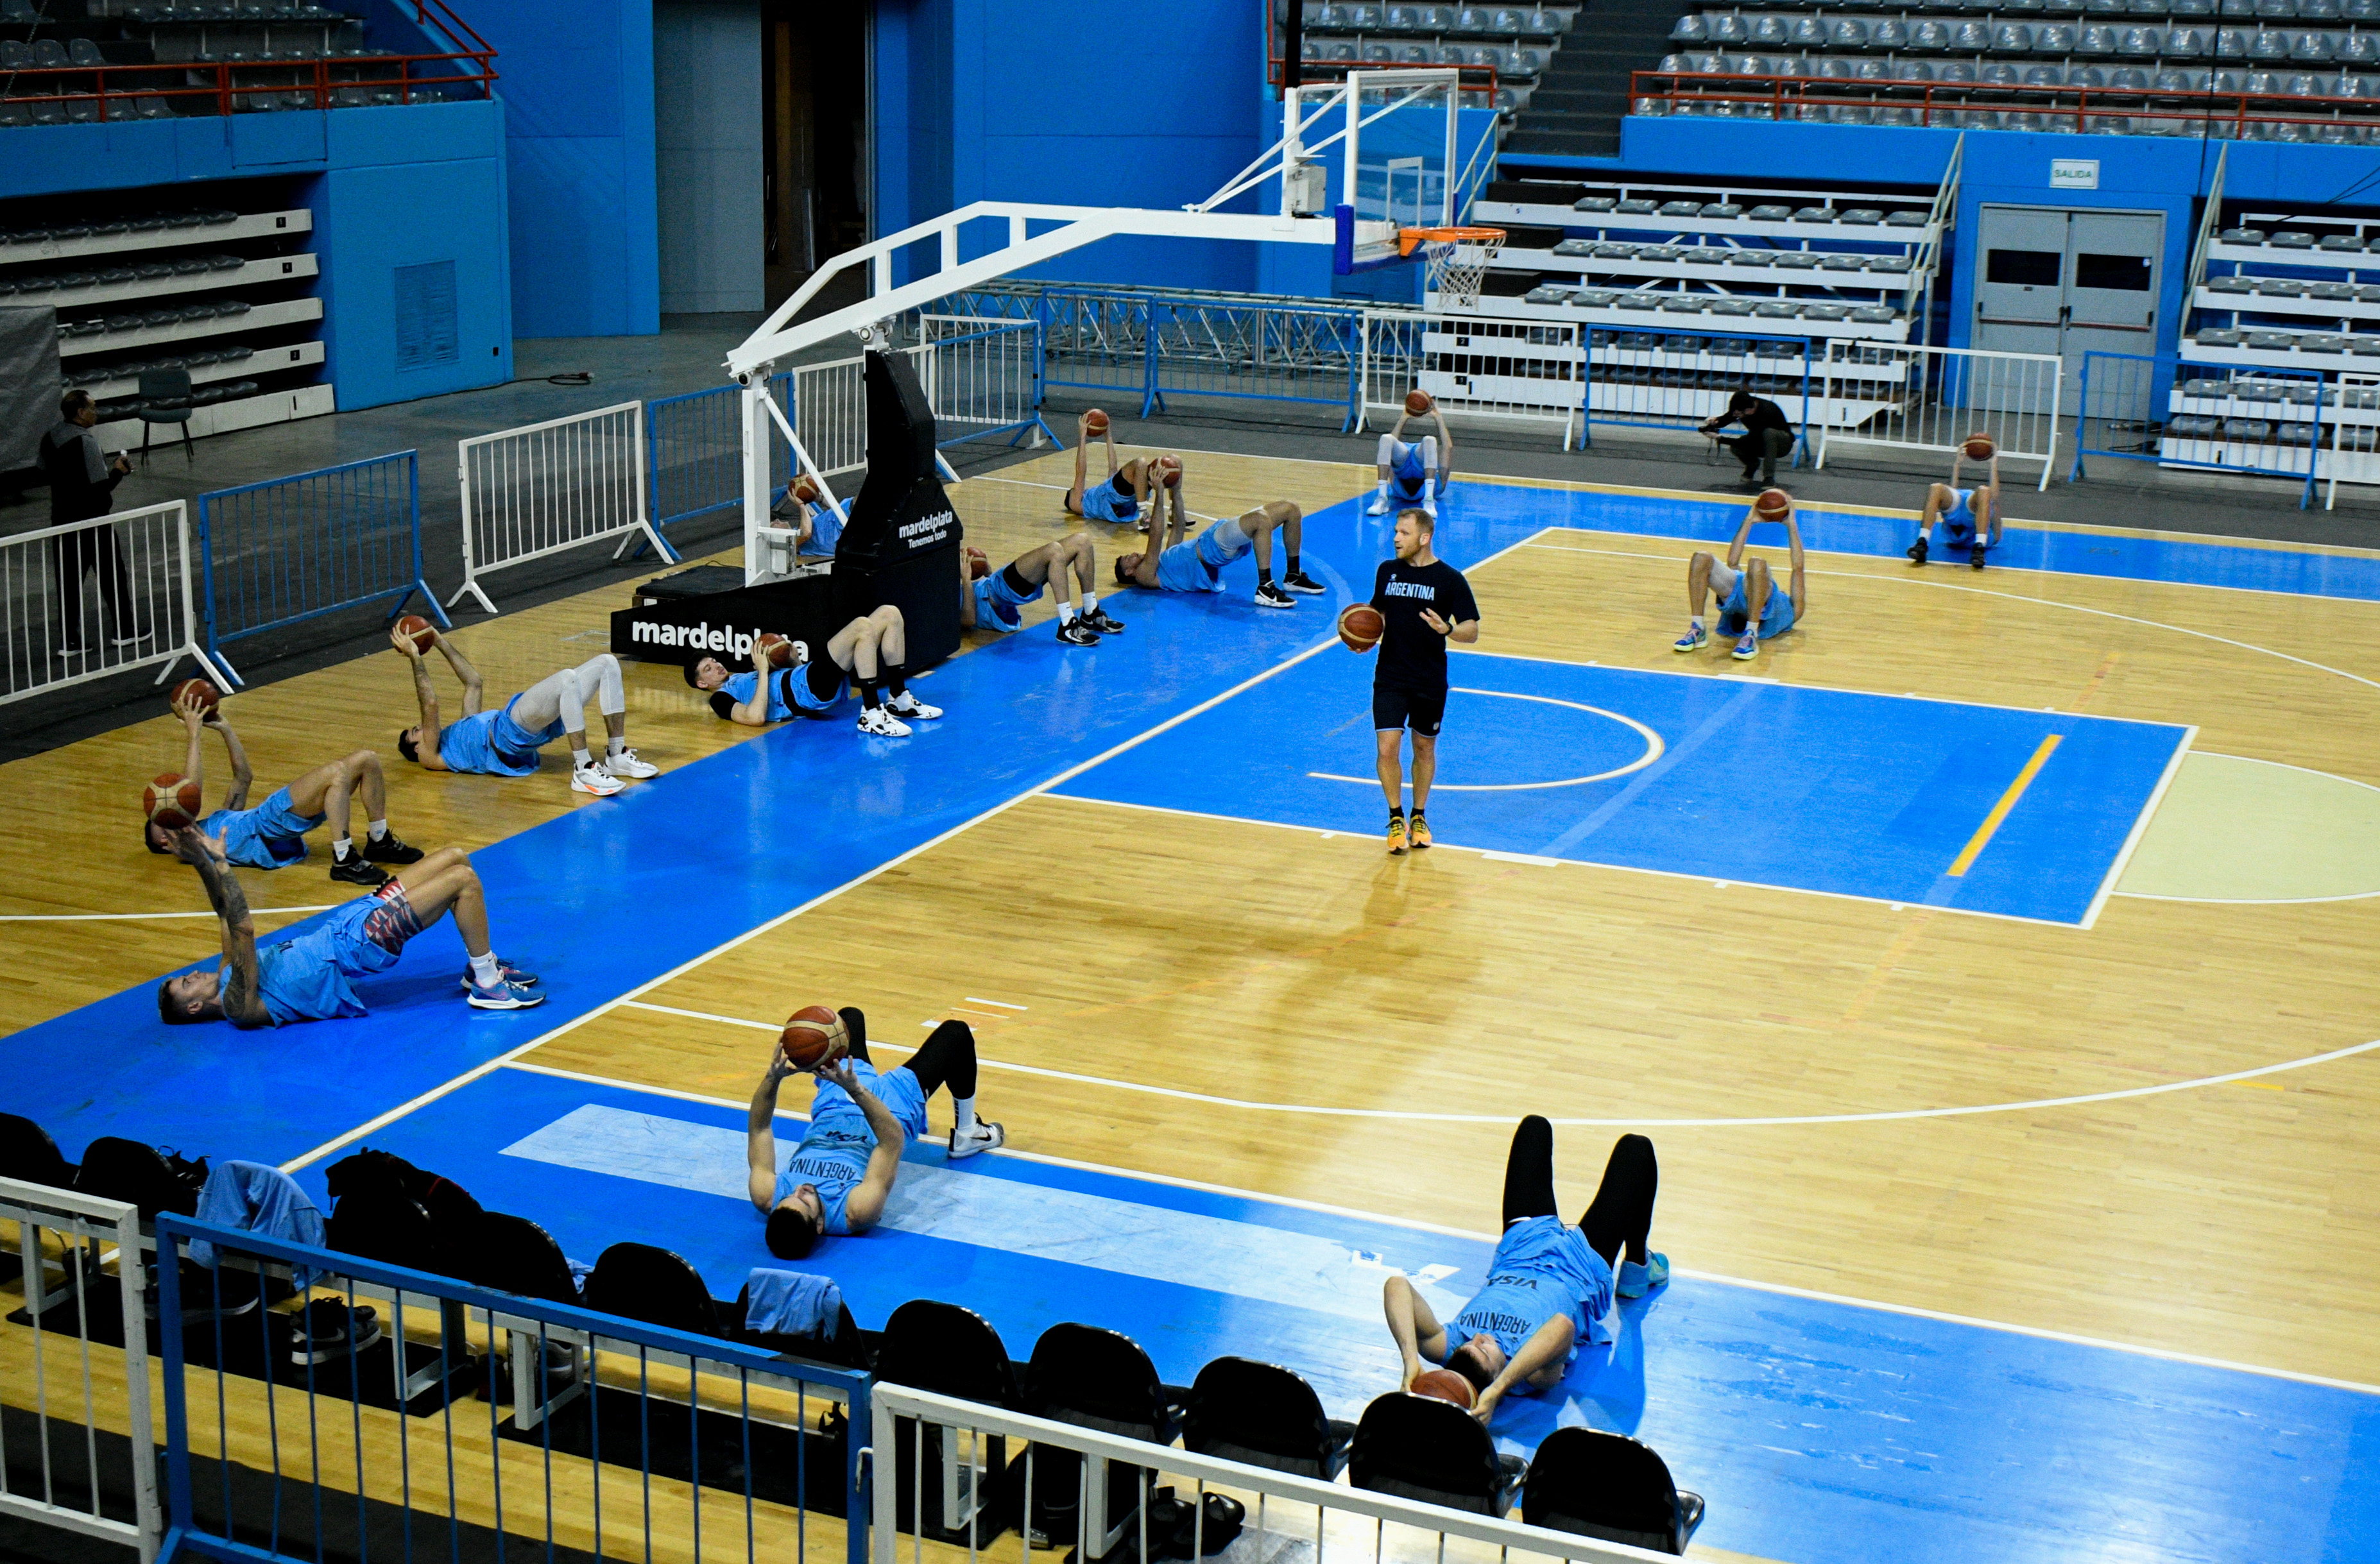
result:
[[(1380, 562), (1371, 605), (1388, 628), (1380, 633), (1380, 667), (1371, 676), (1371, 726), (1380, 752), (1380, 790), (1388, 793), (1388, 850), (1430, 845), (1430, 781), (1438, 776), (1438, 726), (1447, 717), (1447, 643), (1480, 638), (1480, 607), (1464, 574), (1430, 552), (1435, 521), (1428, 512), (1397, 514), (1397, 557)], [(1399, 745), (1414, 728), (1414, 824), (1404, 821), (1404, 767)]]

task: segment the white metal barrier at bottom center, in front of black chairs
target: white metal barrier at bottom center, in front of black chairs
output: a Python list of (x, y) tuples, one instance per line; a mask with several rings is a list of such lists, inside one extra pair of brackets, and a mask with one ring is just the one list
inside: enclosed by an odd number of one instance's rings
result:
[[(902, 1547), (902, 1521), (907, 1519), (907, 1531), (912, 1535), (912, 1559), (923, 1564), (923, 1495), (928, 1485), (928, 1459), (923, 1450), (926, 1426), (945, 1431), (945, 1450), (962, 1450), (954, 1435), (971, 1435), (971, 1445), (983, 1450), (988, 1438), (1004, 1440), (1028, 1440), (1023, 1454), (1023, 1524), (1019, 1535), (1021, 1564), (1033, 1564), (1033, 1464), (1040, 1452), (1071, 1452), (1061, 1466), (1069, 1466), (1066, 1481), (1076, 1483), (1076, 1554), (1073, 1557), (1100, 1557), (1111, 1552), (1114, 1545), (1126, 1543), (1133, 1526), (1130, 1507), (1111, 1507), (1107, 1502), (1107, 1466), (1116, 1464), (1123, 1469), (1138, 1469), (1140, 1497), (1150, 1493), (1157, 1474), (1171, 1474), (1195, 1483), (1195, 1507), (1200, 1514), (1197, 1524), (1204, 1524), (1204, 1495), (1209, 1490), (1223, 1490), (1230, 1497), (1240, 1497), (1250, 1509), (1250, 1521), (1266, 1533), (1273, 1528), (1273, 1516), (1269, 1509), (1273, 1504), (1295, 1507), (1299, 1514), (1311, 1507), (1314, 1533), (1309, 1538), (1295, 1538), (1314, 1547), (1314, 1564), (1323, 1564), (1330, 1543), (1347, 1543), (1352, 1547), (1371, 1545), (1376, 1564), (1383, 1559), (1435, 1559), (1435, 1564), (1449, 1564), (1459, 1559), (1461, 1564), (1485, 1564), (1495, 1559), (1497, 1564), (1509, 1564), (1516, 1554), (1535, 1554), (1542, 1559), (1585, 1559), (1590, 1564), (1637, 1564), (1652, 1559), (1666, 1559), (1671, 1554), (1647, 1552), (1642, 1547), (1626, 1547), (1621, 1543), (1602, 1543), (1597, 1538), (1583, 1538), (1568, 1531), (1547, 1531), (1542, 1526), (1526, 1526), (1521, 1521), (1504, 1521), (1485, 1514), (1468, 1514), (1461, 1509), (1445, 1509), (1438, 1504), (1423, 1504), (1418, 1500), (1407, 1500), (1390, 1493), (1371, 1493), (1366, 1488), (1347, 1488), (1340, 1483), (1323, 1483), (1319, 1478), (1292, 1476), (1288, 1471), (1269, 1471), (1264, 1466), (1245, 1466), (1240, 1462), (1226, 1462), (1211, 1454), (1192, 1454), (1188, 1450), (1176, 1450), (1171, 1445), (1150, 1445), (1142, 1440), (1123, 1438), (1116, 1433), (1097, 1433), (1092, 1428), (1078, 1428), (1073, 1424), (1054, 1424), (1040, 1416), (1026, 1416), (1021, 1412), (1002, 1412), (997, 1407), (985, 1407), (978, 1402), (962, 1402), (950, 1395), (935, 1395), (931, 1390), (912, 1390), (907, 1385), (890, 1385), (876, 1381), (869, 1395), (871, 1416), (871, 1469), (876, 1476), (876, 1514), (869, 1526), (869, 1554), (871, 1564), (900, 1564)], [(907, 1421), (907, 1428), (900, 1424)], [(914, 1440), (909, 1471), (916, 1481), (909, 1483), (912, 1490), (912, 1514), (900, 1514), (900, 1483), (892, 1481), (897, 1466), (900, 1447), (897, 1438)], [(969, 1459), (971, 1481), (959, 1483), (959, 1490), (981, 1493), (981, 1483), (992, 1481), (997, 1474), (983, 1474), (973, 1469), (973, 1457)], [(1092, 1476), (1100, 1469), (1100, 1476)], [(950, 1493), (945, 1483), (945, 1493)], [(1147, 1528), (1147, 1504), (1138, 1507), (1142, 1533)], [(1338, 1519), (1340, 1526), (1333, 1531), (1330, 1521)], [(1354, 1526), (1349, 1526), (1349, 1521)], [(952, 1516), (945, 1509), (945, 1526), (952, 1526)], [(1399, 1528), (1397, 1547), (1390, 1547), (1390, 1526)], [(973, 1564), (973, 1526), (969, 1531), (969, 1564)], [(1421, 1547), (1407, 1547), (1402, 1531), (1421, 1533)], [(1114, 1535), (1109, 1535), (1114, 1533)], [(1126, 1552), (1123, 1557), (1152, 1557), (1147, 1550), (1147, 1535), (1138, 1538), (1140, 1550)], [(1050, 1545), (1064, 1547), (1061, 1538), (1050, 1538)], [(1128, 1543), (1126, 1543), (1128, 1545)], [(1192, 1538), (1192, 1550), (1200, 1552), (1202, 1538)], [(1452, 1545), (1452, 1547), (1449, 1547)], [(1252, 1557), (1273, 1557), (1273, 1550), (1259, 1538), (1257, 1552)]]

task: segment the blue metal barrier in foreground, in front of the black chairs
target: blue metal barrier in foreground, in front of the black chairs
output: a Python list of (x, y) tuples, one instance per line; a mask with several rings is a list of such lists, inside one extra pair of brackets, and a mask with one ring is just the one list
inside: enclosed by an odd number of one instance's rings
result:
[[(186, 1216), (157, 1219), (157, 1250), (178, 1550), (364, 1557), (343, 1543), (378, 1519), (390, 1564), (462, 1557), (466, 1535), (474, 1557), (807, 1564), (812, 1533), (821, 1559), (866, 1564), (866, 1374)], [(307, 1274), (314, 1309), (371, 1305), (378, 1340), (324, 1352), (276, 1307), (188, 1309), (193, 1281), (224, 1297), (243, 1271)], [(838, 1450), (819, 1424), (843, 1409)]]

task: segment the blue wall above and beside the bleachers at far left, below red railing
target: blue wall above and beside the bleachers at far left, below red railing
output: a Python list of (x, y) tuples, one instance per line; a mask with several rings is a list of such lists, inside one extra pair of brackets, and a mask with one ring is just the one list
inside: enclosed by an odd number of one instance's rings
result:
[[(174, 186), (190, 186), (188, 202), (205, 205), (214, 181), (290, 179), (293, 205), (314, 214), (317, 290), (340, 407), (512, 379), (502, 102), (29, 126), (5, 136), (14, 155), (0, 162), (0, 198), (162, 188), (174, 200)], [(400, 371), (395, 269), (421, 262), (455, 262), (457, 357)]]

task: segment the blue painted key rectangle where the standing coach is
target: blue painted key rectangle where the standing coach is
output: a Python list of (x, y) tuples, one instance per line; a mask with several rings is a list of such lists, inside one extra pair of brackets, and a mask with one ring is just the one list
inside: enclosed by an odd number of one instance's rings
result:
[[(1461, 655), (1442, 843), (2082, 924), (2190, 728)], [(2033, 757), (2056, 740), (1961, 864)], [(1371, 833), (1371, 659), (1323, 652), (1066, 797)]]

